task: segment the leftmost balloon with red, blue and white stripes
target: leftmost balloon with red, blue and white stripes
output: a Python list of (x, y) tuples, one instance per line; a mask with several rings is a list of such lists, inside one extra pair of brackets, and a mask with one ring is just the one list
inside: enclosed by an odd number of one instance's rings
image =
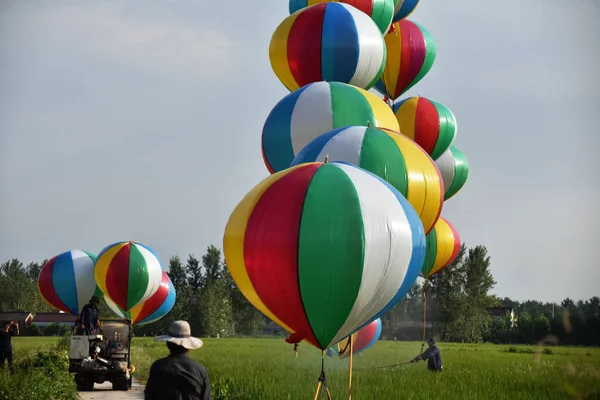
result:
[(102, 298), (94, 280), (95, 260), (95, 254), (81, 250), (69, 250), (52, 257), (38, 277), (42, 298), (60, 311), (79, 315), (92, 296)]

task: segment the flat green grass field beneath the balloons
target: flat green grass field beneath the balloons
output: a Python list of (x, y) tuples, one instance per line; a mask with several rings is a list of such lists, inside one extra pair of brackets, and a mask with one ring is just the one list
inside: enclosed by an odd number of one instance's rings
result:
[[(56, 343), (52, 338), (15, 338), (15, 353)], [(444, 372), (427, 371), (425, 362), (388, 369), (377, 366), (408, 361), (420, 343), (380, 341), (354, 358), (354, 400), (365, 399), (598, 399), (600, 349), (506, 345), (439, 345)], [(509, 348), (512, 347), (512, 352)], [(136, 376), (147, 378), (166, 346), (135, 338)], [(299, 357), (283, 339), (206, 339), (192, 357), (208, 368), (220, 397), (229, 399), (312, 399), (321, 353), (301, 344)], [(334, 399), (347, 398), (348, 360), (325, 358)], [(216, 393), (215, 393), (216, 394)], [(323, 397), (324, 398), (324, 397)]]

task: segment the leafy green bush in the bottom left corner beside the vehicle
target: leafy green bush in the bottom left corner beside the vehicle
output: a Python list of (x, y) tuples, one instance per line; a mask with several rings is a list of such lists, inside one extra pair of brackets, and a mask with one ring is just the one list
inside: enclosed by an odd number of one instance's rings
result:
[(65, 351), (38, 351), (15, 362), (14, 372), (0, 370), (2, 400), (78, 400)]

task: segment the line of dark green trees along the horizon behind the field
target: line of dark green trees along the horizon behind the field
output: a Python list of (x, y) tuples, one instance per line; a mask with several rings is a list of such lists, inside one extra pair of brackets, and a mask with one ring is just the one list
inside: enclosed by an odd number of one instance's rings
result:
[[(12, 259), (0, 265), (0, 311), (52, 311), (37, 290), (45, 262), (24, 265)], [(489, 293), (496, 284), (490, 264), (485, 246), (467, 249), (463, 244), (448, 267), (415, 283), (382, 316), (382, 337), (421, 340), (425, 327), (426, 336), (445, 342), (600, 345), (600, 298), (577, 302), (567, 298), (560, 304), (499, 298)], [(136, 327), (136, 335), (164, 333), (179, 319), (189, 321), (193, 333), (203, 337), (256, 336), (271, 323), (238, 290), (221, 251), (213, 245), (200, 258), (171, 257), (168, 274), (177, 293), (173, 309), (155, 323)], [(100, 304), (102, 316), (113, 315), (104, 302)], [(493, 307), (512, 308), (515, 319), (509, 313), (491, 315)], [(43, 333), (60, 334), (62, 329), (51, 325)], [(22, 333), (42, 334), (34, 327)]]

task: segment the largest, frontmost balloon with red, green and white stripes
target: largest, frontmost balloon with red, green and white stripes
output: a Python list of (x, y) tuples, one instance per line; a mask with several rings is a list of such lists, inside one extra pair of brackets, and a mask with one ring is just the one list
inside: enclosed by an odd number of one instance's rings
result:
[(425, 259), (425, 233), (383, 179), (349, 164), (310, 163), (244, 197), (224, 253), (244, 296), (293, 332), (292, 343), (327, 349), (406, 295)]

